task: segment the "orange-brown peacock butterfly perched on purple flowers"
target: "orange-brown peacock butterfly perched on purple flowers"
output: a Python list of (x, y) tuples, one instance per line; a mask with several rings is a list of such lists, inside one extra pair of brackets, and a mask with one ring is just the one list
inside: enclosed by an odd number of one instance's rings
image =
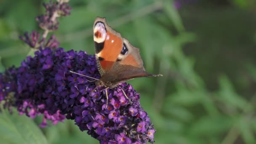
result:
[[(97, 80), (97, 86), (106, 87), (106, 95), (107, 88), (115, 88), (119, 83), (124, 83), (136, 77), (163, 76), (161, 74), (154, 75), (146, 72), (139, 54), (139, 48), (131, 45), (131, 43), (123, 38), (120, 33), (113, 30), (107, 24), (105, 18), (97, 17), (94, 21), (93, 40), (95, 45), (96, 63), (101, 78), (99, 80), (93, 77), (90, 78)], [(124, 91), (123, 93), (126, 96)], [(127, 96), (126, 98), (128, 99)]]

